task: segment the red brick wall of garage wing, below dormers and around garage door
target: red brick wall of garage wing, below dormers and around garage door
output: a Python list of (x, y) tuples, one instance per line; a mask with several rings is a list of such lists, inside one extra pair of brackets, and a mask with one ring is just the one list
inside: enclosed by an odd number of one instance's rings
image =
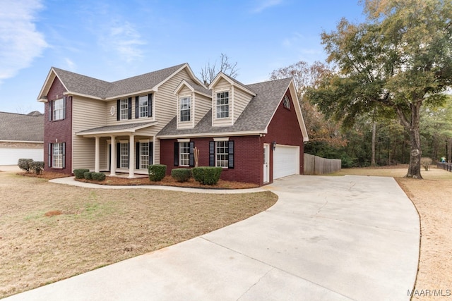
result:
[[(263, 185), (263, 144), (271, 144), (275, 141), (279, 145), (299, 146), (299, 173), (303, 173), (303, 135), (299, 128), (295, 106), (292, 102), (290, 92), (287, 91), (290, 99), (291, 109), (286, 109), (283, 102), (275, 112), (268, 133), (264, 137), (259, 136), (230, 136), (229, 140), (234, 141), (234, 168), (224, 168), (221, 178), (223, 180), (234, 180), (239, 182), (256, 183)], [(199, 166), (209, 165), (209, 142), (213, 137), (191, 138), (194, 146), (199, 149)], [(174, 142), (177, 139), (160, 141), (160, 163), (167, 166), (167, 173), (171, 173), (174, 166)], [(278, 151), (278, 150), (276, 150)], [(273, 182), (273, 149), (270, 147), (270, 183)]]

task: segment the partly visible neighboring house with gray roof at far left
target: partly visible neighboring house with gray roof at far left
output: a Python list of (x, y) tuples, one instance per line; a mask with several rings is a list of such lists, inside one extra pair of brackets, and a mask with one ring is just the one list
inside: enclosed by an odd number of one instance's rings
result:
[(18, 159), (43, 161), (44, 115), (0, 112), (0, 165), (17, 165)]

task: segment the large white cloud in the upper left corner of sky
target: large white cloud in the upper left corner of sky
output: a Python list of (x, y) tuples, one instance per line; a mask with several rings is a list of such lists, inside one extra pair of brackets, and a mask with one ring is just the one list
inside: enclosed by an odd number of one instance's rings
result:
[(34, 23), (37, 12), (42, 9), (40, 0), (0, 0), (0, 3), (1, 83), (30, 66), (48, 44)]

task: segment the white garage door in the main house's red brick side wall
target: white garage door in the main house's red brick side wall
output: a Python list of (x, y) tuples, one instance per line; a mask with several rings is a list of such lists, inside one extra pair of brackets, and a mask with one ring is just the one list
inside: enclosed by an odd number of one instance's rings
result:
[(299, 147), (276, 145), (273, 152), (273, 179), (299, 174)]

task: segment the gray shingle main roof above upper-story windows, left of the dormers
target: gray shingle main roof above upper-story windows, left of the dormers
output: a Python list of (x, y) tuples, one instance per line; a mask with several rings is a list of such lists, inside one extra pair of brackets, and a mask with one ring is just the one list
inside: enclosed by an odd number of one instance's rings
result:
[(106, 82), (104, 80), (97, 80), (96, 78), (90, 78), (89, 76), (73, 73), (59, 68), (52, 68), (55, 70), (55, 73), (57, 73), (57, 76), (69, 92), (105, 99), (108, 97), (150, 90), (182, 66), (184, 66), (184, 63), (150, 73), (145, 73), (143, 75), (133, 76), (132, 78), (118, 80), (116, 82)]

